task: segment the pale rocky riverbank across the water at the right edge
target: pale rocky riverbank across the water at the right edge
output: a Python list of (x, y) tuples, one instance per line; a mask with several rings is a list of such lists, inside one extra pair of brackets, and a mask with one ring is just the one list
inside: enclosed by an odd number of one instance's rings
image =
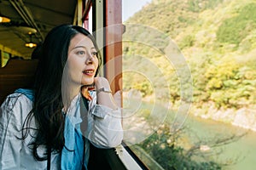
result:
[(190, 113), (200, 116), (203, 119), (225, 122), (256, 132), (256, 105), (250, 105), (236, 110), (233, 108), (218, 109), (212, 103), (207, 103), (201, 105), (200, 108), (193, 105)]

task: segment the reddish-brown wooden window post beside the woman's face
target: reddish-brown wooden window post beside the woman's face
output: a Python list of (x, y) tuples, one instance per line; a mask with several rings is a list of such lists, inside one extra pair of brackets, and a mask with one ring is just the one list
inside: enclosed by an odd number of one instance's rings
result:
[[(106, 0), (106, 77), (113, 92), (119, 90), (122, 77), (122, 0)], [(111, 62), (108, 62), (111, 61)], [(120, 81), (119, 81), (120, 80)]]

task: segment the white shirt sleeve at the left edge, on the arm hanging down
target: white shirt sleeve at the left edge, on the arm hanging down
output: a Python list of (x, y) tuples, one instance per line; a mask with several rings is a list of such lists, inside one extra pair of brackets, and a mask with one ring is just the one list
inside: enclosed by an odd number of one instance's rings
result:
[(0, 169), (20, 169), (20, 116), (17, 98), (8, 97), (0, 108)]

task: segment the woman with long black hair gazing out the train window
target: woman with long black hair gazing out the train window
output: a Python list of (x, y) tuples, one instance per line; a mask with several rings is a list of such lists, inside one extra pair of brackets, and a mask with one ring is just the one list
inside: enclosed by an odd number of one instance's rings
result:
[(110, 148), (123, 138), (109, 83), (96, 77), (96, 42), (80, 26), (61, 25), (40, 53), (34, 88), (1, 106), (0, 169), (87, 169), (90, 144)]

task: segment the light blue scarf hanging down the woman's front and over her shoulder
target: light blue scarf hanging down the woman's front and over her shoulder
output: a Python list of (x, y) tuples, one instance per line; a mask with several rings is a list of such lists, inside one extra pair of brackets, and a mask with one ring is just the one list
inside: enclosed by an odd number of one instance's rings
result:
[[(15, 93), (24, 94), (28, 99), (33, 101), (34, 92), (32, 89), (19, 88), (15, 90)], [(79, 107), (77, 107), (77, 110), (79, 110)], [(81, 122), (81, 118), (74, 116), (65, 117), (65, 146), (61, 151), (61, 169), (77, 170), (82, 169), (83, 165), (87, 169), (89, 141), (88, 139), (83, 139), (80, 130)], [(88, 146), (85, 151), (87, 152), (86, 156), (84, 155), (84, 141), (85, 145)]]

